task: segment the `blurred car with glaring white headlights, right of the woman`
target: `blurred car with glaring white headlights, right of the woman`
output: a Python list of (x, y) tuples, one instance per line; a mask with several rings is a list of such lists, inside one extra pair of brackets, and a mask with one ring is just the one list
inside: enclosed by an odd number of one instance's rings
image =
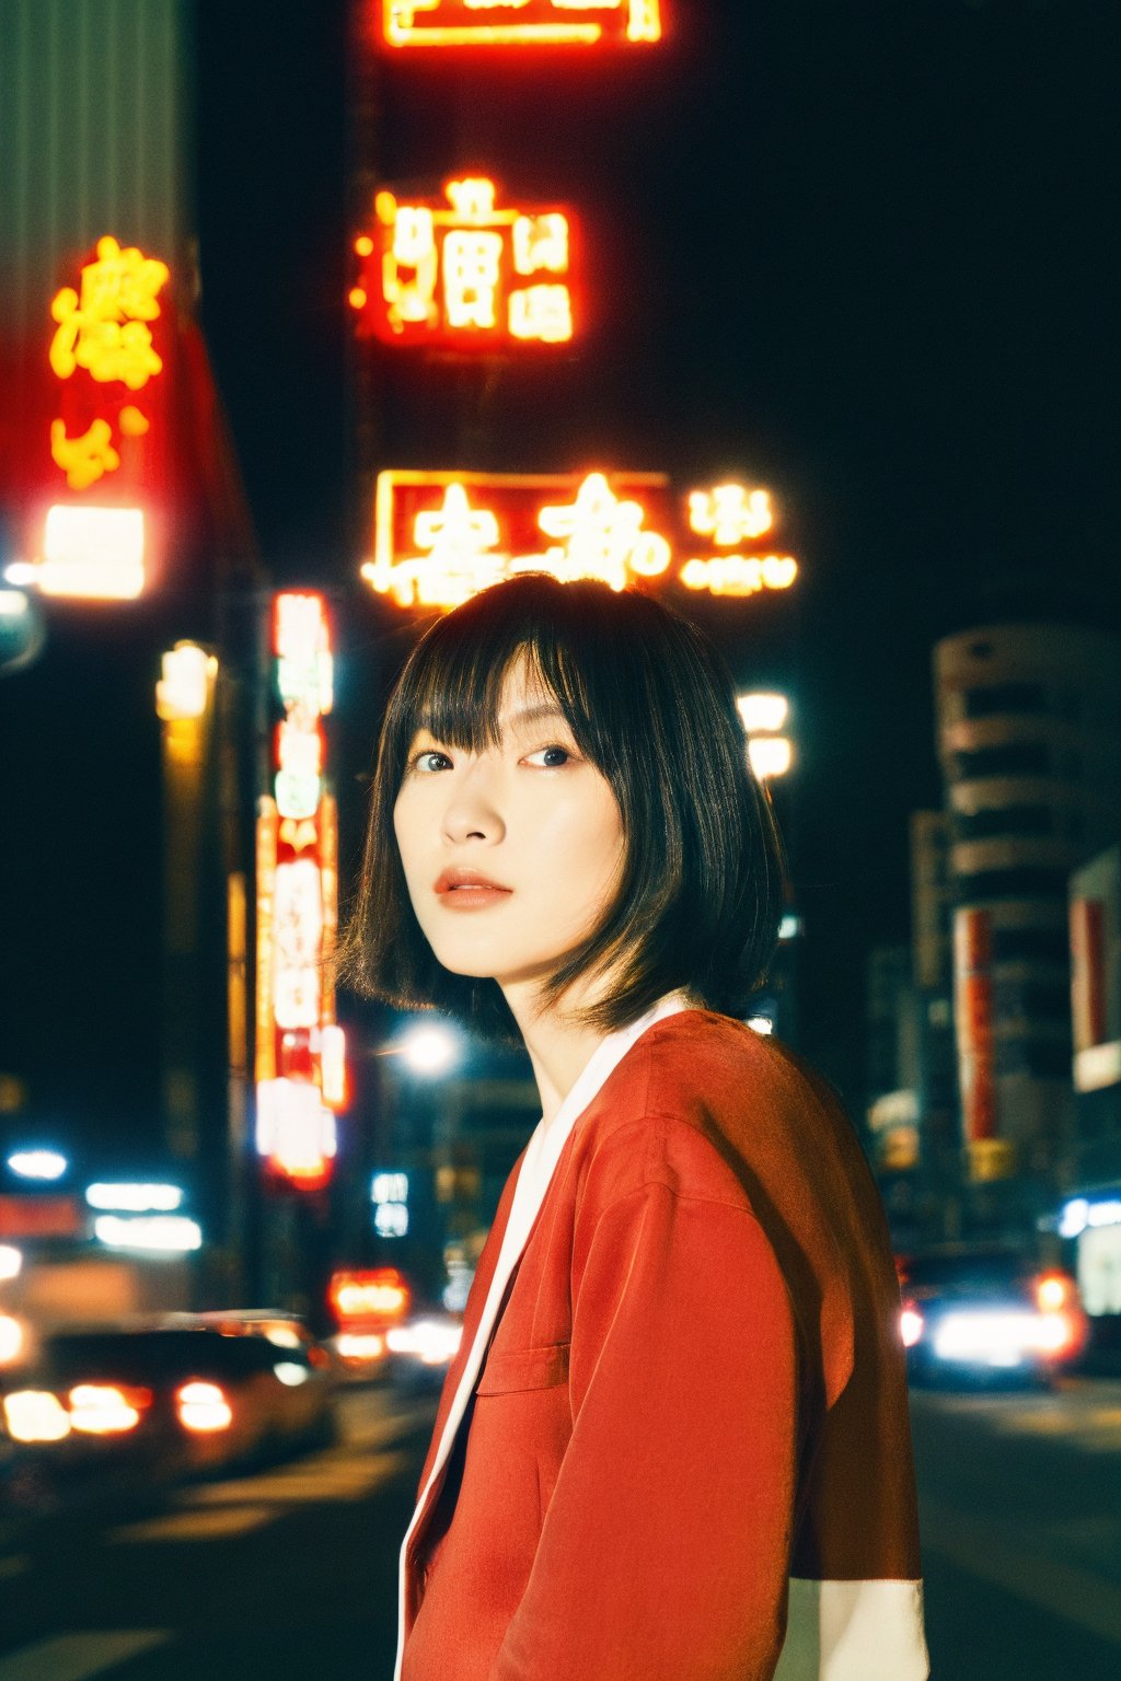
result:
[(1086, 1343), (1074, 1279), (998, 1244), (897, 1261), (899, 1330), (914, 1380), (1049, 1383)]

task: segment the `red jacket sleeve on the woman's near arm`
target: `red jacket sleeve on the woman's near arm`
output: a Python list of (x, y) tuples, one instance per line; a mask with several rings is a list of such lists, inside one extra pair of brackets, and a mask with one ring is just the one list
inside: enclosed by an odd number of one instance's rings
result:
[(795, 1328), (746, 1205), (642, 1185), (573, 1264), (573, 1432), (491, 1681), (765, 1681), (787, 1607)]

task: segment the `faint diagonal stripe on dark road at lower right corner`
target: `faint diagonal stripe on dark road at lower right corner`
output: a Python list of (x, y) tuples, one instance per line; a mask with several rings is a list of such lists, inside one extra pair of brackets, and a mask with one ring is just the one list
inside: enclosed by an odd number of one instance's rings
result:
[(1018, 1536), (1012, 1526), (978, 1520), (936, 1499), (921, 1501), (919, 1520), (923, 1545), (960, 1570), (1121, 1646), (1121, 1595), (1106, 1577), (1029, 1552), (1008, 1538)]

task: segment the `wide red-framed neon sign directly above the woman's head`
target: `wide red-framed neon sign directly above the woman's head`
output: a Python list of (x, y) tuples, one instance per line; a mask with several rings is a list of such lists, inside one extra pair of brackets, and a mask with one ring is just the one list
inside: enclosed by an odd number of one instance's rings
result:
[(671, 516), (655, 472), (382, 472), (361, 575), (400, 607), (454, 607), (518, 572), (622, 590), (669, 566)]

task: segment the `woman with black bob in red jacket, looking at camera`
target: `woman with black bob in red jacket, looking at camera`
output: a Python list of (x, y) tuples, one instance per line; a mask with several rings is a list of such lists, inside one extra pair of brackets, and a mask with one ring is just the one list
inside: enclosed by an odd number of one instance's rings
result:
[(923, 1681), (899, 1296), (829, 1089), (741, 1017), (780, 847), (731, 679), (539, 575), (390, 699), (348, 970), (524, 1041), (402, 1548), (402, 1681)]

